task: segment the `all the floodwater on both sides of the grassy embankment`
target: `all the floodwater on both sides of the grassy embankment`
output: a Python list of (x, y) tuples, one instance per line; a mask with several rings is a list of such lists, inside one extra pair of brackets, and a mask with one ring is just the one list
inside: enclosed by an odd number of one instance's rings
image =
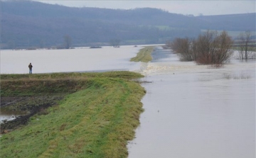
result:
[(129, 70), (147, 93), (129, 158), (255, 158), (255, 61), (214, 69), (179, 62), (157, 47), (149, 63), (129, 62), (142, 46), (1, 51), (1, 74)]

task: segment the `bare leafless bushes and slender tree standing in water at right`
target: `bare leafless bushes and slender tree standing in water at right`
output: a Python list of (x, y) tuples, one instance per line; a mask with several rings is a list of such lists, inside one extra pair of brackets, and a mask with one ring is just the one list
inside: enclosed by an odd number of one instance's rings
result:
[[(255, 53), (249, 51), (250, 39), (250, 32), (241, 33), (238, 37), (240, 45), (237, 49), (241, 60), (255, 58)], [(207, 30), (196, 39), (175, 38), (172, 42), (167, 42), (166, 47), (178, 53), (181, 61), (221, 66), (233, 57), (233, 43), (233, 39), (226, 31), (218, 33), (216, 30)]]

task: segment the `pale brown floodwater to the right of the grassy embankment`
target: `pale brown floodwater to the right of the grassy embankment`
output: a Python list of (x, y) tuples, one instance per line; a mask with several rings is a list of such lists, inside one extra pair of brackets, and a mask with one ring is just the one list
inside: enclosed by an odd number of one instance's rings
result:
[(213, 69), (166, 51), (144, 66), (152, 83), (129, 158), (255, 158), (255, 61)]

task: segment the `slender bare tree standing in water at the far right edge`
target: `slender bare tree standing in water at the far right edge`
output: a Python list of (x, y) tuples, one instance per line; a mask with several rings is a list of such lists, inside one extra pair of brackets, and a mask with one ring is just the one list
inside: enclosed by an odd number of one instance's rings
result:
[(250, 51), (250, 38), (251, 33), (250, 31), (245, 31), (245, 33), (240, 33), (238, 36), (239, 41), (239, 58), (241, 60), (248, 60), (250, 58), (254, 58), (252, 55), (252, 51)]

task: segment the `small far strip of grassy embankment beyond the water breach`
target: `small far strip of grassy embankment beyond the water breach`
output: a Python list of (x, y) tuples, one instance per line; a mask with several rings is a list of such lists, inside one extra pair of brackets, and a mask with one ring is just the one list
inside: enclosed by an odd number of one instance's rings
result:
[(133, 57), (131, 62), (149, 62), (152, 60), (151, 53), (154, 51), (154, 46), (146, 46), (139, 50), (136, 57)]

